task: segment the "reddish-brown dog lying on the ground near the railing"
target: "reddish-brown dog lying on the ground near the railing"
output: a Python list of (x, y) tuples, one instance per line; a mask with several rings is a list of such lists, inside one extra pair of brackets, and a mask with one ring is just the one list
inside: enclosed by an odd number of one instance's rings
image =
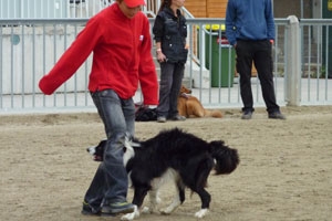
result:
[(191, 90), (183, 85), (177, 99), (177, 109), (179, 115), (185, 117), (222, 117), (220, 110), (205, 109), (198, 98), (190, 94)]

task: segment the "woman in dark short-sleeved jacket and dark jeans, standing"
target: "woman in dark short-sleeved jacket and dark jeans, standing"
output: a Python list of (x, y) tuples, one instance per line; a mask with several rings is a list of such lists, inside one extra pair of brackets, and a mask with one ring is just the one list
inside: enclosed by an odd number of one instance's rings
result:
[(157, 122), (185, 120), (177, 110), (177, 99), (184, 77), (188, 49), (187, 23), (180, 8), (185, 0), (163, 0), (153, 33), (160, 64), (159, 105)]

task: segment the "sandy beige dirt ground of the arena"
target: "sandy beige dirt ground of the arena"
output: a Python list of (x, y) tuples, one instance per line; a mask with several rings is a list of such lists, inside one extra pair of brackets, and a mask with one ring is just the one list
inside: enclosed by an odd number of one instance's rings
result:
[[(251, 120), (241, 120), (239, 109), (221, 110), (221, 119), (136, 123), (141, 139), (179, 127), (238, 149), (241, 162), (234, 173), (209, 177), (212, 200), (204, 220), (332, 219), (332, 106), (282, 107), (287, 120), (268, 119), (263, 108)], [(80, 213), (97, 167), (85, 149), (104, 138), (96, 114), (0, 115), (0, 220), (120, 220)], [(160, 207), (173, 192), (170, 183), (162, 190)], [(186, 197), (170, 215), (138, 220), (196, 220), (198, 196), (187, 191)]]

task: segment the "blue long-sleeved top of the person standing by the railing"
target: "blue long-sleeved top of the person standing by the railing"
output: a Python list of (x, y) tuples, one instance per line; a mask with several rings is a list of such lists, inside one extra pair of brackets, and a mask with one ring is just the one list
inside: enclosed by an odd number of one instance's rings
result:
[(225, 24), (231, 45), (237, 40), (274, 40), (271, 0), (229, 0)]

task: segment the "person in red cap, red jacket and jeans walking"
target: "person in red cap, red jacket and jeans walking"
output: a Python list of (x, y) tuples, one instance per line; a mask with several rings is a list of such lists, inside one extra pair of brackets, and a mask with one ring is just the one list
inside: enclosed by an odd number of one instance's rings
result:
[(158, 82), (151, 49), (149, 22), (141, 11), (144, 0), (116, 0), (89, 20), (84, 30), (39, 83), (52, 94), (93, 52), (89, 91), (104, 123), (107, 147), (83, 201), (83, 214), (134, 211), (126, 201), (128, 180), (123, 165), (127, 134), (134, 136), (138, 83), (145, 105), (158, 104)]

